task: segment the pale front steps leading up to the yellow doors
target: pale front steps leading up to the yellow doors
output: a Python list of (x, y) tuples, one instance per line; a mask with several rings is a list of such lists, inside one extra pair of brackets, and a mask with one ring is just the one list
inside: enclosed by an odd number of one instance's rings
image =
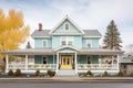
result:
[(57, 76), (76, 76), (75, 70), (58, 70)]

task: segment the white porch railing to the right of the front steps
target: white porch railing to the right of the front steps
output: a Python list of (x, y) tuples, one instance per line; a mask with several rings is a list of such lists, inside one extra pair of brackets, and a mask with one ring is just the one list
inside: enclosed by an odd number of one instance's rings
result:
[(78, 64), (78, 70), (113, 70), (117, 64)]

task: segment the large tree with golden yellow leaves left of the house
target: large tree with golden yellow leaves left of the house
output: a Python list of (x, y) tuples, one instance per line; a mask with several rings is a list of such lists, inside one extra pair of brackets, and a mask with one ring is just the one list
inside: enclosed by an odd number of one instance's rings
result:
[[(30, 34), (30, 28), (24, 25), (22, 12), (9, 10), (6, 15), (0, 9), (0, 52), (18, 50)], [(0, 58), (4, 55), (0, 54)]]

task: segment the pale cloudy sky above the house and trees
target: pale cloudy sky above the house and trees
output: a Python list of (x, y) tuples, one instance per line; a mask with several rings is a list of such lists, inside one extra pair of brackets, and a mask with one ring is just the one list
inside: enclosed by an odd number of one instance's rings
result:
[[(25, 25), (31, 28), (30, 33), (38, 29), (39, 23), (51, 30), (68, 14), (83, 30), (99, 30), (104, 36), (106, 26), (114, 20), (123, 50), (133, 44), (133, 0), (0, 0), (0, 9), (6, 13), (10, 9), (21, 11)], [(28, 41), (34, 46), (31, 37)], [(25, 43), (21, 48), (24, 46)]]

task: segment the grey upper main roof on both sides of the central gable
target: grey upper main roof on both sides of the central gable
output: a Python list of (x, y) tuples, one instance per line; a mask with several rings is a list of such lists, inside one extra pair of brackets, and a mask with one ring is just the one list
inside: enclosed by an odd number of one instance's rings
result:
[[(39, 31), (39, 30), (35, 30), (31, 36), (32, 37), (35, 37), (35, 36), (49, 36), (49, 32), (51, 30), (42, 30), (42, 31)], [(98, 30), (83, 30), (84, 31), (84, 36), (102, 36), (101, 33), (98, 31)]]

